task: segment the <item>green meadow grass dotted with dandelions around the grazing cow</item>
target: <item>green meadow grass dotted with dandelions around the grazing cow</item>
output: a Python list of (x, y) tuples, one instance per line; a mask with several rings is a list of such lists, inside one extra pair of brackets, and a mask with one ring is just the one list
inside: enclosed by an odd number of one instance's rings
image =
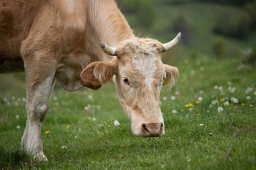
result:
[[(25, 97), (23, 85), (5, 91), (0, 95), (0, 167), (255, 169), (256, 71), (249, 66), (250, 71), (238, 72), (236, 67), (239, 63), (238, 59), (214, 60), (208, 57), (188, 58), (186, 63), (176, 62), (175, 66), (180, 71), (176, 85), (171, 91), (167, 91), (167, 87), (161, 91), (166, 135), (160, 138), (132, 135), (130, 122), (119, 106), (113, 84), (107, 84), (99, 91), (82, 89), (75, 93), (57, 87), (42, 126), (47, 163), (37, 162), (19, 149), (26, 125), (25, 102), (21, 99)], [(192, 69), (194, 74), (191, 74)], [(11, 80), (14, 74), (9, 75)], [(5, 80), (4, 76), (2, 74), (1, 79)], [(223, 91), (214, 89), (215, 85), (222, 86)], [(229, 86), (236, 88), (234, 93), (228, 91)], [(247, 87), (252, 91), (246, 94)], [(171, 96), (176, 99), (172, 101)], [(200, 96), (203, 101), (196, 104)], [(224, 108), (220, 98), (225, 97), (230, 106), (219, 113), (218, 107)], [(231, 97), (238, 98), (239, 103), (230, 101)], [(213, 100), (218, 100), (218, 103), (210, 108)], [(192, 103), (193, 108), (187, 108), (188, 103)], [(85, 111), (84, 107), (88, 105), (89, 109)], [(172, 113), (174, 109), (177, 113)], [(114, 120), (119, 120), (118, 127), (114, 126)], [(70, 128), (67, 129), (67, 125)], [(47, 130), (50, 131), (48, 135), (44, 134)], [(235, 132), (238, 134), (233, 139)], [(227, 154), (232, 142), (229, 160)]]

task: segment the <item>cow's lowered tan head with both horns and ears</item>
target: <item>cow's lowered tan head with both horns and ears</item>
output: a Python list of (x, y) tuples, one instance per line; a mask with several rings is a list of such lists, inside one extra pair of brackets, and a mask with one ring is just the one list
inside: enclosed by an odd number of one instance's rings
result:
[(132, 122), (132, 132), (141, 137), (164, 135), (164, 120), (159, 107), (161, 86), (172, 86), (178, 69), (161, 62), (161, 52), (170, 50), (181, 38), (161, 44), (157, 40), (132, 38), (120, 47), (101, 47), (108, 55), (116, 56), (111, 62), (92, 62), (81, 73), (85, 86), (99, 89), (113, 82), (119, 102)]

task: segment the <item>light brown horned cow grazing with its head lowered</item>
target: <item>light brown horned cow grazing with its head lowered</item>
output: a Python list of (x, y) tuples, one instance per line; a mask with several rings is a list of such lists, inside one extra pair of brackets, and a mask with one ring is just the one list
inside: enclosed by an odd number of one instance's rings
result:
[(26, 73), (21, 149), (47, 161), (41, 125), (55, 81), (66, 91), (112, 82), (133, 134), (164, 135), (159, 94), (163, 84), (174, 85), (178, 69), (163, 64), (161, 52), (180, 39), (136, 37), (114, 0), (1, 0), (0, 72)]

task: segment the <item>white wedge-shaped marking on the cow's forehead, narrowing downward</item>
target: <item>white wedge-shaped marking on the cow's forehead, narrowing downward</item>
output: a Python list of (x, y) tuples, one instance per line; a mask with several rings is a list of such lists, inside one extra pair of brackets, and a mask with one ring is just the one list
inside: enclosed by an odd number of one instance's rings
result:
[(156, 72), (156, 58), (153, 56), (139, 55), (132, 59), (135, 68), (145, 77), (145, 84), (152, 90), (151, 84), (154, 81), (154, 74)]

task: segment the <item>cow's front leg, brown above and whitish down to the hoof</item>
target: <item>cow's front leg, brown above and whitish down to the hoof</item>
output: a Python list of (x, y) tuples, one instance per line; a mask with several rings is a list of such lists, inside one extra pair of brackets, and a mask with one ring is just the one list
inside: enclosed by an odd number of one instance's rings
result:
[[(47, 161), (43, 154), (41, 141), (41, 125), (49, 110), (50, 96), (55, 84), (55, 67), (29, 67), (25, 63), (27, 81), (27, 121), (26, 128), (21, 139), (21, 149), (39, 161)], [(38, 69), (43, 72), (38, 72)]]

